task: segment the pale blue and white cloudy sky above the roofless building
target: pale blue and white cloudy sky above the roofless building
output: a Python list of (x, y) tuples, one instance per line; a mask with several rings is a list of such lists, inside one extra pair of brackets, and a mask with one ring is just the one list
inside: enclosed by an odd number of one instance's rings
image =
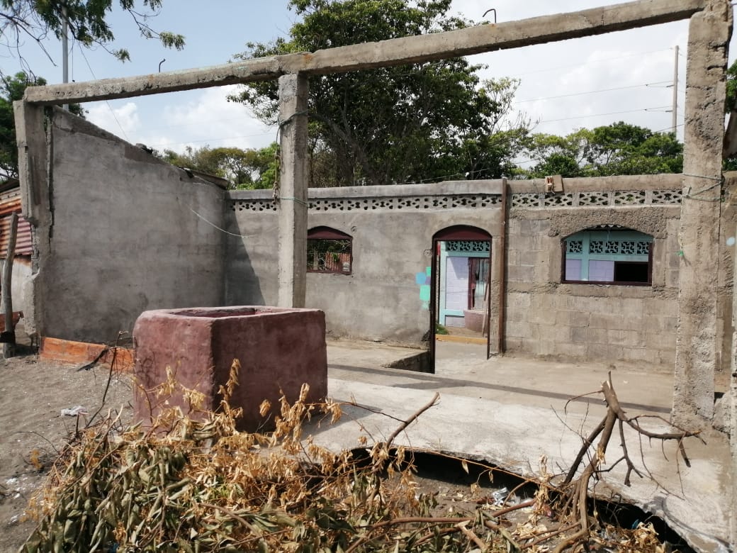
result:
[[(113, 2), (114, 3), (114, 2)], [(497, 22), (515, 21), (552, 13), (573, 12), (614, 4), (612, 0), (496, 0)], [(139, 1), (140, 4), (140, 1)], [(130, 51), (121, 63), (103, 49), (70, 52), (70, 80), (77, 82), (128, 77), (162, 71), (192, 69), (227, 63), (245, 50), (247, 42), (288, 37), (297, 21), (287, 0), (164, 0), (163, 9), (150, 19), (151, 27), (183, 34), (181, 52), (146, 40), (128, 14), (116, 11), (108, 18), (116, 46)], [(454, 0), (450, 15), (482, 21), (488, 1)], [(492, 14), (487, 15), (487, 19)], [(682, 139), (685, 98), (685, 60), (688, 21), (615, 32), (597, 37), (528, 46), (470, 56), (483, 64), (482, 79), (514, 77), (520, 80), (514, 109), (534, 122), (534, 132), (566, 135), (579, 128), (595, 128), (625, 121), (653, 131), (672, 125), (675, 46), (678, 55), (677, 133)], [(734, 43), (734, 39), (733, 39)], [(35, 44), (22, 52), (35, 74), (60, 83), (61, 46), (46, 41), (52, 64)], [(737, 55), (732, 45), (730, 63)], [(165, 61), (162, 61), (165, 60)], [(0, 54), (3, 72), (20, 69), (18, 60)], [(276, 139), (276, 128), (259, 122), (247, 107), (228, 102), (237, 86), (203, 88), (126, 100), (89, 102), (87, 118), (132, 143), (157, 150), (182, 152), (186, 147), (237, 146), (259, 148)], [(525, 164), (525, 160), (517, 160)]]

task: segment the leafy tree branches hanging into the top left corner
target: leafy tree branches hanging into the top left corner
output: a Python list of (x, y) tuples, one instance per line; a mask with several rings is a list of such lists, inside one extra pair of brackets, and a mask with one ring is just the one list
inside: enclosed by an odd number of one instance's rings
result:
[[(150, 18), (158, 15), (162, 1), (118, 0), (118, 4), (130, 15), (143, 37), (158, 38), (167, 48), (182, 49), (184, 36), (150, 27)], [(85, 47), (102, 46), (122, 61), (130, 59), (128, 50), (111, 49), (115, 35), (105, 18), (113, 10), (113, 0), (0, 0), (0, 10), (2, 44), (15, 50), (18, 58), (22, 59), (20, 47), (28, 39), (43, 49), (41, 41), (49, 33), (60, 38), (66, 20), (72, 40)]]

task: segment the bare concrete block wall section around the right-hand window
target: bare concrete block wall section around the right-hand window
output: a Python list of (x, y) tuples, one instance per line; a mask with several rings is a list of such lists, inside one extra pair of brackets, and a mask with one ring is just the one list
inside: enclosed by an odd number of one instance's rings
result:
[[(641, 180), (638, 187), (670, 184)], [(603, 179), (567, 183), (574, 192), (621, 187)], [(520, 191), (532, 186), (514, 185)], [(562, 361), (672, 368), (678, 316), (678, 213), (677, 206), (512, 209), (506, 351)], [(562, 240), (604, 223), (654, 236), (652, 286), (562, 284)]]

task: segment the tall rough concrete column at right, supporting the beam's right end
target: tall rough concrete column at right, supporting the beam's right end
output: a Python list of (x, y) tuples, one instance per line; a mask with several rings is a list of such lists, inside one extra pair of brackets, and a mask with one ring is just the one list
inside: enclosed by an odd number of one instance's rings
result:
[(683, 199), (679, 242), (678, 330), (673, 420), (699, 428), (714, 414), (718, 361), (717, 267), (728, 0), (711, 0), (691, 18), (686, 69)]

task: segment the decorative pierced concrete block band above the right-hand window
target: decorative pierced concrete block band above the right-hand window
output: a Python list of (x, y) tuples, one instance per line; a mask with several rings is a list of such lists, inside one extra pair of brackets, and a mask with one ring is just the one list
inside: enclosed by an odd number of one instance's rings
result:
[(645, 206), (679, 205), (680, 190), (632, 190), (623, 192), (567, 192), (565, 194), (525, 193), (511, 196), (512, 207), (595, 207), (595, 206)]

